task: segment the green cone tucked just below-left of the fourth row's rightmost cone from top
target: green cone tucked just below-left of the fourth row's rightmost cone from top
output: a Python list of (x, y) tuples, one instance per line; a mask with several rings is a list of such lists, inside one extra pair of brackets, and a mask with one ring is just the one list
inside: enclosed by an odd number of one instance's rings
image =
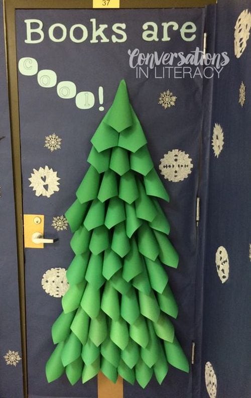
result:
[(156, 207), (151, 197), (146, 194), (144, 186), (140, 181), (138, 181), (138, 187), (140, 195), (135, 202), (136, 216), (140, 219), (151, 222), (157, 216)]

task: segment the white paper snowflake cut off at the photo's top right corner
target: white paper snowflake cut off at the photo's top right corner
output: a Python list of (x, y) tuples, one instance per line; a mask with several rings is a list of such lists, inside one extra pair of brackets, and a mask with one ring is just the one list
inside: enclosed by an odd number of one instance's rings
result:
[(239, 58), (246, 48), (250, 27), (251, 13), (248, 10), (243, 10), (238, 16), (234, 27), (234, 54), (236, 58)]

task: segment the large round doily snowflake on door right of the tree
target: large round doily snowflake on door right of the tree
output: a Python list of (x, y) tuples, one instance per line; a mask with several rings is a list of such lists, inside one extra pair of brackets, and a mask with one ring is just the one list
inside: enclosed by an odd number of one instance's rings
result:
[(192, 172), (193, 164), (189, 155), (179, 149), (173, 149), (160, 160), (159, 169), (169, 181), (183, 181)]

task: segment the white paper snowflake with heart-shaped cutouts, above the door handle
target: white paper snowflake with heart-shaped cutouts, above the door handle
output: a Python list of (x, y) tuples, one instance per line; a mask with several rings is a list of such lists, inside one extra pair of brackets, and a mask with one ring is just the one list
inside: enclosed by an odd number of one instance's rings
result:
[(33, 169), (29, 181), (31, 184), (29, 186), (33, 187), (36, 191), (36, 196), (46, 196), (50, 197), (54, 192), (59, 191), (59, 177), (57, 177), (57, 171), (53, 171), (52, 168), (49, 169), (48, 166), (45, 168), (40, 167), (39, 170)]

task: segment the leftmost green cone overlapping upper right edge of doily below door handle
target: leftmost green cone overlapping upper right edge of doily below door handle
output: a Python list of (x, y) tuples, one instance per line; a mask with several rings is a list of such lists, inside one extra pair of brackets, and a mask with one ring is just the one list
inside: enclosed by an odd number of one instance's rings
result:
[(75, 256), (66, 271), (66, 278), (70, 285), (83, 281), (89, 261), (89, 251)]

